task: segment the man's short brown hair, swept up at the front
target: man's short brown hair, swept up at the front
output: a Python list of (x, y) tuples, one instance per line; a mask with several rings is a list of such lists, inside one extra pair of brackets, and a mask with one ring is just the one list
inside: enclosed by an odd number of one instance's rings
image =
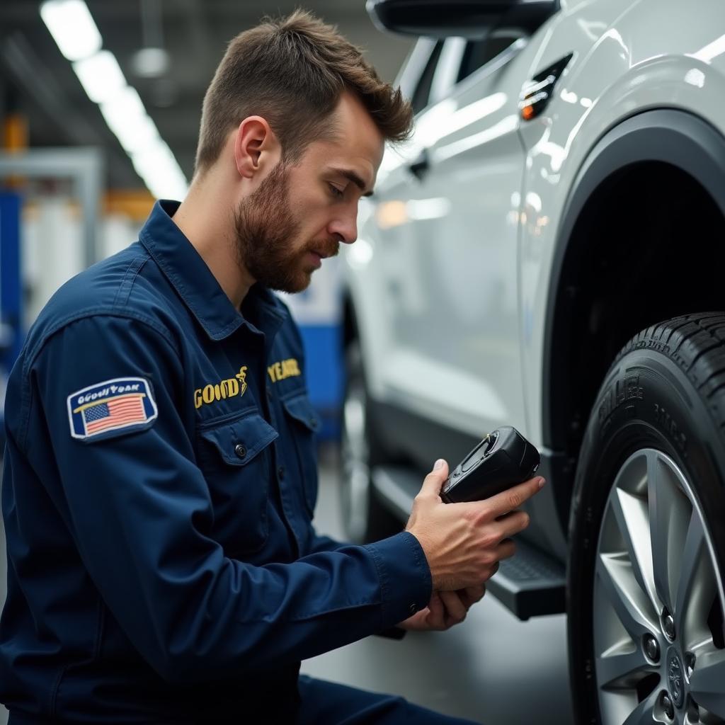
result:
[(330, 116), (344, 91), (362, 101), (386, 140), (409, 136), (410, 104), (336, 28), (302, 10), (265, 18), (229, 43), (207, 89), (196, 172), (210, 167), (230, 131), (253, 115), (268, 121), (283, 160), (296, 162), (312, 141), (334, 135)]

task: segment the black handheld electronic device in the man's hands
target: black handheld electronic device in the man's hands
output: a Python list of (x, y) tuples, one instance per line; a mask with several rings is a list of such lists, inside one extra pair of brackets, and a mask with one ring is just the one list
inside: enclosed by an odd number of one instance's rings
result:
[(539, 452), (515, 428), (489, 433), (452, 471), (441, 489), (446, 503), (480, 501), (534, 477)]

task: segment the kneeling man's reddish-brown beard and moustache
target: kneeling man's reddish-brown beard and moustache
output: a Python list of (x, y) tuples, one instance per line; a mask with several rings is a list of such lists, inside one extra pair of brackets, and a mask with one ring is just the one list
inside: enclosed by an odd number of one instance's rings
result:
[(317, 249), (331, 257), (339, 244), (330, 239), (313, 241), (294, 251), (300, 227), (289, 204), (289, 173), (280, 162), (234, 212), (239, 265), (270, 289), (306, 289), (315, 266), (305, 264), (305, 254)]

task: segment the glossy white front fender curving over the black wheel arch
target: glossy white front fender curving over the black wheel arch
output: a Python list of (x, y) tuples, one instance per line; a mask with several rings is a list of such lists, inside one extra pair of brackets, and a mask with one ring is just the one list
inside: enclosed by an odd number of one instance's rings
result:
[[(581, 4), (565, 15), (542, 49), (540, 65), (545, 67), (571, 47), (566, 39), (576, 37), (576, 28), (600, 22), (589, 12), (601, 4)], [(718, 30), (725, 27), (725, 6), (716, 0), (700, 5), (707, 7), (711, 24), (692, 23), (692, 8), (676, 0), (658, 2), (656, 12), (651, 1), (628, 7), (584, 57), (575, 59), (546, 113), (522, 124), (528, 149), (521, 210), (523, 386), (527, 430), (542, 447), (550, 443), (544, 440), (541, 407), (547, 384), (542, 360), (547, 355), (550, 273), (557, 245), (563, 243), (563, 210), (579, 170), (608, 130), (649, 109), (686, 110), (725, 135), (720, 102), (725, 93), (725, 36)], [(663, 46), (671, 52), (662, 54)]]

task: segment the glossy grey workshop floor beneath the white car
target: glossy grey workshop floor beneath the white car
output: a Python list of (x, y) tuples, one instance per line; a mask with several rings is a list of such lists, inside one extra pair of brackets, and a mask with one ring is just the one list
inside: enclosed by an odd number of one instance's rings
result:
[[(335, 453), (321, 458), (316, 526), (341, 538)], [(3, 579), (4, 560), (0, 535)], [(369, 637), (307, 660), (302, 671), (486, 725), (573, 725), (566, 618), (520, 622), (488, 596), (450, 631), (411, 632), (402, 642)]]

